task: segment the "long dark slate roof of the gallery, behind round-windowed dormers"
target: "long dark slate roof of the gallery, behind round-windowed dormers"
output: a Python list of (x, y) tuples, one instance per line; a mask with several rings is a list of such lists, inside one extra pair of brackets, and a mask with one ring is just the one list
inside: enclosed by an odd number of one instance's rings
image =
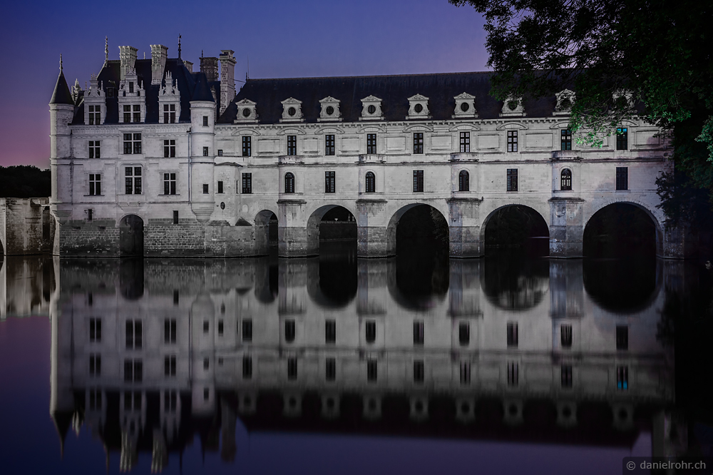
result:
[[(319, 100), (327, 96), (339, 99), (344, 122), (359, 122), (361, 99), (376, 96), (386, 121), (404, 121), (409, 112), (409, 97), (421, 94), (429, 98), (433, 120), (451, 121), (456, 108), (454, 96), (466, 92), (476, 96), (478, 118), (498, 118), (503, 101), (490, 96), (492, 72), (405, 74), (399, 76), (344, 76), (334, 78), (248, 79), (230, 103), (219, 123), (232, 123), (237, 114), (237, 101), (250, 99), (257, 103), (260, 123), (279, 123), (282, 101), (292, 97), (302, 101), (304, 121), (317, 122)], [(551, 117), (555, 96), (525, 101), (526, 117)]]

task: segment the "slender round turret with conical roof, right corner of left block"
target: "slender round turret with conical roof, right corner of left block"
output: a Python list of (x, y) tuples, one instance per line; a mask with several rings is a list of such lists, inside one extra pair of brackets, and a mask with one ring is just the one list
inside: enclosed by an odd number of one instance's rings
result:
[(205, 73), (198, 75), (190, 101), (191, 208), (200, 223), (215, 209), (215, 99)]

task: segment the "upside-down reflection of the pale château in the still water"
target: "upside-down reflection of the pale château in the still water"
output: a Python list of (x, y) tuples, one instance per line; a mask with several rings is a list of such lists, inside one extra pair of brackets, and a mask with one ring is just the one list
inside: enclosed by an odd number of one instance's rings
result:
[(248, 431), (593, 446), (652, 431), (667, 450), (673, 351), (657, 322), (678, 262), (656, 261), (624, 311), (602, 282), (590, 295), (582, 260), (446, 260), (432, 278), (447, 292), (417, 298), (396, 260), (352, 253), (28, 262), (5, 262), (1, 303), (51, 315), (61, 440), (86, 424), (123, 470), (150, 452), (160, 471), (196, 434), (233, 461), (238, 418)]

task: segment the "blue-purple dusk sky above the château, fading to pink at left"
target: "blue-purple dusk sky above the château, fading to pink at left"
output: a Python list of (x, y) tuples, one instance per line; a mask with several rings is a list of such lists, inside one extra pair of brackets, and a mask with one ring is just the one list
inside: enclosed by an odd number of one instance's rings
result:
[[(0, 165), (49, 166), (48, 102), (63, 54), (84, 88), (118, 46), (193, 61), (235, 51), (235, 78), (483, 71), (483, 19), (447, 0), (25, 1), (0, 16)], [(240, 88), (242, 83), (236, 83)]]

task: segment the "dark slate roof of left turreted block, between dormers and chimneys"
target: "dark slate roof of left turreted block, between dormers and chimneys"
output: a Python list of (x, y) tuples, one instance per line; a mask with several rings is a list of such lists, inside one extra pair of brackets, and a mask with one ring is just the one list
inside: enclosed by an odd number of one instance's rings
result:
[[(118, 123), (119, 121), (119, 106), (118, 106), (118, 87), (120, 78), (120, 61), (111, 60), (101, 68), (99, 75), (97, 77), (98, 81), (101, 82), (104, 90), (108, 88), (113, 88), (113, 95), (106, 98), (106, 121), (105, 123)], [(151, 60), (150, 59), (137, 59), (135, 63), (136, 76), (141, 83), (141, 86), (146, 91), (146, 122), (145, 123), (158, 123), (158, 94), (160, 93), (161, 86), (158, 84), (151, 84)], [(213, 100), (210, 88), (215, 88), (217, 96), (217, 107), (220, 107), (220, 81), (205, 81), (205, 73), (196, 72), (191, 73), (182, 60), (173, 58), (166, 61), (165, 68), (163, 70), (163, 76), (167, 72), (171, 73), (173, 80), (176, 81), (178, 85), (178, 91), (180, 91), (180, 116), (178, 118), (179, 122), (190, 122), (190, 101), (193, 100), (193, 93), (196, 88), (196, 83), (199, 82), (199, 78), (202, 76), (203, 81), (206, 83), (208, 94), (210, 95), (210, 101)], [(66, 84), (66, 81), (65, 81)], [(163, 84), (163, 81), (162, 81)], [(71, 99), (71, 97), (70, 97)], [(207, 99), (201, 99), (203, 101)], [(76, 109), (74, 113), (74, 119), (72, 121), (73, 125), (78, 125), (84, 123), (84, 105), (83, 103)]]

